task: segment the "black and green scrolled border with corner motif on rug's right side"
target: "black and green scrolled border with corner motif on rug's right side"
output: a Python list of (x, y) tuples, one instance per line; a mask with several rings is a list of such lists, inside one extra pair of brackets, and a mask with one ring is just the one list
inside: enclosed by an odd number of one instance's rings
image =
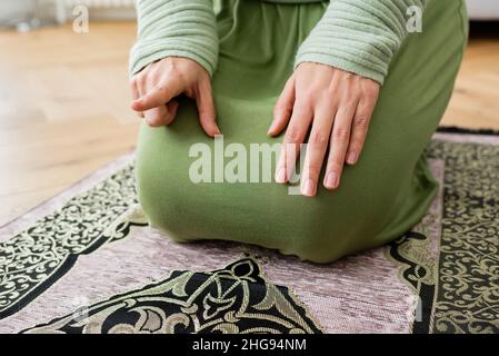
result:
[(413, 332), (498, 333), (499, 149), (440, 140), (429, 156), (447, 168), (438, 251), (418, 227), (389, 247), (420, 298)]

